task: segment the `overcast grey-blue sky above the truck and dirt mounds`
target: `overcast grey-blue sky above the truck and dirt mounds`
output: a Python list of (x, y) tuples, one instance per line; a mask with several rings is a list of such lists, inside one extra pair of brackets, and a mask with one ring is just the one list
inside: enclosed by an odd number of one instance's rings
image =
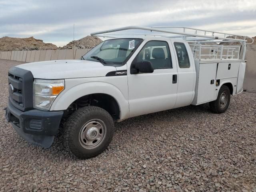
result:
[(122, 26), (190, 26), (256, 36), (256, 0), (0, 0), (0, 37), (57, 46)]

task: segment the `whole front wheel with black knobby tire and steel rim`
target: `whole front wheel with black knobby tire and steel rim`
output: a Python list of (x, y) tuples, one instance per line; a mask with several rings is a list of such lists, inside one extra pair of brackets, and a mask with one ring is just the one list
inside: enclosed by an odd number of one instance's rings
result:
[(65, 146), (81, 159), (102, 153), (114, 135), (114, 121), (110, 114), (96, 106), (76, 110), (64, 128)]

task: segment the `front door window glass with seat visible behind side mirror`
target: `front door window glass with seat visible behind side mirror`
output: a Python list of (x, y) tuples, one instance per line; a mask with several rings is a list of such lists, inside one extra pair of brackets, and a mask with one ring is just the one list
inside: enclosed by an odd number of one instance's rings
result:
[(154, 69), (172, 68), (170, 50), (167, 42), (147, 42), (134, 59), (134, 62), (140, 61), (150, 61)]

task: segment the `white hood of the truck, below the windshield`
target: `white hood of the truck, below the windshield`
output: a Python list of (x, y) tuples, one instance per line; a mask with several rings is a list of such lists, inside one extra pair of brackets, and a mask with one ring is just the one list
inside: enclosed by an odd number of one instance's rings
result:
[(110, 71), (116, 71), (113, 66), (104, 66), (100, 62), (88, 60), (42, 61), (17, 67), (31, 71), (34, 78), (40, 79), (102, 77)]

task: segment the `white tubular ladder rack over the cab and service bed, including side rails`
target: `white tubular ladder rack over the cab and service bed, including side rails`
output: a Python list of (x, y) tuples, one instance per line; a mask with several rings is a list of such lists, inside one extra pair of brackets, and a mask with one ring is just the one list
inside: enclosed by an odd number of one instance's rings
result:
[[(119, 33), (116, 33), (119, 32)], [(92, 36), (107, 38), (156, 36), (182, 38), (190, 44), (194, 59), (241, 59), (244, 60), (246, 44), (252, 44), (253, 38), (243, 35), (215, 32), (182, 26), (128, 26), (91, 33)], [(229, 38), (232, 36), (232, 38)], [(247, 42), (250, 39), (251, 42)], [(222, 43), (237, 42), (238, 45)]]

